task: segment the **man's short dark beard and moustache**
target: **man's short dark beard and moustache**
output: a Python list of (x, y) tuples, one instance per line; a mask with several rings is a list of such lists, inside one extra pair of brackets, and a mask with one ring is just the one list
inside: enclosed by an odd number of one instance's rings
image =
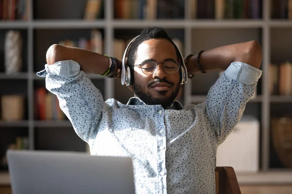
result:
[[(150, 85), (157, 83), (157, 82), (166, 82), (168, 84), (174, 85), (173, 83), (170, 83), (166, 80), (156, 79), (154, 81), (151, 81), (147, 84), (146, 87), (150, 87)], [(134, 93), (137, 97), (139, 97), (143, 102), (145, 102), (148, 105), (161, 105), (163, 108), (166, 108), (170, 106), (173, 102), (173, 100), (178, 96), (180, 91), (180, 84), (178, 83), (175, 90), (172, 91), (170, 97), (164, 98), (164, 97), (154, 97), (153, 95), (150, 95), (149, 93), (145, 92), (145, 89), (134, 82), (133, 84)], [(168, 91), (161, 91), (159, 92), (161, 95), (165, 95)]]

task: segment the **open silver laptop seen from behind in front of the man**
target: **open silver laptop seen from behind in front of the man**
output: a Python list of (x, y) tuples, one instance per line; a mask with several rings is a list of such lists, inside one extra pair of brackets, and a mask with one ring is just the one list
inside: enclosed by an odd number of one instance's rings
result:
[(134, 194), (132, 160), (82, 152), (8, 150), (13, 194)]

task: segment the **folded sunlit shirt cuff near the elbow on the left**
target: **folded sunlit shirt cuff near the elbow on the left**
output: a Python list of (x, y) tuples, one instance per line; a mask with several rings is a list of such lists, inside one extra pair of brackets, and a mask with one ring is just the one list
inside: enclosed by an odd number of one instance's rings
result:
[(80, 65), (73, 60), (58, 61), (53, 65), (45, 65), (45, 69), (37, 72), (37, 76), (46, 77), (47, 74), (60, 77), (74, 77), (80, 72)]

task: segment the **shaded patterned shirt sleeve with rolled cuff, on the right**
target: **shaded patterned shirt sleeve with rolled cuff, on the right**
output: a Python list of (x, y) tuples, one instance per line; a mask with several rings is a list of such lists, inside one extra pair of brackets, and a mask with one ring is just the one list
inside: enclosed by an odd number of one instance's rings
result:
[(210, 88), (205, 102), (206, 114), (219, 144), (237, 125), (261, 74), (256, 67), (234, 62)]

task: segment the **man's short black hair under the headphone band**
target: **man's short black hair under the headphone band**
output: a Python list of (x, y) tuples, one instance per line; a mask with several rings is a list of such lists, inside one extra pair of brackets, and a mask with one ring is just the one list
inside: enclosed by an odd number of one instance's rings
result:
[(164, 38), (173, 44), (174, 48), (176, 49), (178, 62), (182, 65), (183, 59), (181, 58), (180, 51), (178, 50), (174, 42), (171, 40), (171, 38), (168, 36), (168, 34), (165, 32), (165, 30), (160, 27), (148, 27), (140, 33), (140, 36), (133, 42), (131, 48), (129, 49), (128, 66), (135, 65), (134, 63), (137, 58), (137, 49), (142, 42), (149, 39), (158, 39), (158, 38)]

